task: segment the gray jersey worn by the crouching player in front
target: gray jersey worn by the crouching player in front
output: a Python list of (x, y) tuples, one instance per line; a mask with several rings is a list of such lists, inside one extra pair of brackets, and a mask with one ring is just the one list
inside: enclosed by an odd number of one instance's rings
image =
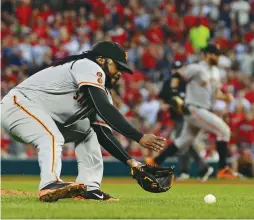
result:
[(46, 68), (17, 86), (28, 98), (43, 106), (57, 122), (69, 126), (93, 112), (80, 94), (82, 85), (105, 90), (105, 73), (89, 59)]

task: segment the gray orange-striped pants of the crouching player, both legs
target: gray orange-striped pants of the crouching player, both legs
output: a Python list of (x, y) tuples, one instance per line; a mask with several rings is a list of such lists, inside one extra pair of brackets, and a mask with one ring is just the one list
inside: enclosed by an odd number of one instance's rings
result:
[(78, 163), (77, 182), (98, 189), (103, 175), (103, 159), (96, 133), (88, 119), (65, 128), (57, 124), (47, 109), (13, 89), (1, 102), (2, 127), (17, 141), (38, 149), (40, 185), (60, 180), (62, 147), (75, 142)]

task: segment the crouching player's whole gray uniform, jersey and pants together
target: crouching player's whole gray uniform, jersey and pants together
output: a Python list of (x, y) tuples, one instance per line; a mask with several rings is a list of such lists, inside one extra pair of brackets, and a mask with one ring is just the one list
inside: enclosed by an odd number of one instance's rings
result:
[[(42, 189), (60, 178), (64, 143), (75, 142), (77, 182), (98, 189), (103, 159), (97, 136), (90, 126), (87, 97), (82, 85), (105, 90), (105, 73), (96, 63), (81, 59), (49, 67), (20, 83), (2, 100), (2, 126), (17, 140), (38, 149)], [(110, 95), (109, 95), (109, 98)], [(95, 123), (107, 126), (98, 116)]]

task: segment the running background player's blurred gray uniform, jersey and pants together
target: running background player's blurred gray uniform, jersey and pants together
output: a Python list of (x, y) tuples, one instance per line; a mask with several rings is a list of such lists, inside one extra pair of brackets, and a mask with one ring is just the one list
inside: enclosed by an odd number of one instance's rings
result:
[(185, 104), (190, 114), (184, 117), (183, 129), (175, 145), (180, 149), (189, 147), (201, 129), (215, 134), (218, 141), (228, 142), (229, 127), (210, 111), (216, 90), (220, 87), (218, 69), (202, 61), (182, 68), (180, 73), (187, 81)]

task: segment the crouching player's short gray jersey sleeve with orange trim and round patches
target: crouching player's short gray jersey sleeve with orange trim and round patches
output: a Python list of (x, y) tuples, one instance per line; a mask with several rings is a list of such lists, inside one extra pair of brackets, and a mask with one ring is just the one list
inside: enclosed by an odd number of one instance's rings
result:
[(70, 71), (78, 88), (88, 85), (105, 90), (106, 75), (101, 67), (93, 61), (78, 60), (72, 64)]

